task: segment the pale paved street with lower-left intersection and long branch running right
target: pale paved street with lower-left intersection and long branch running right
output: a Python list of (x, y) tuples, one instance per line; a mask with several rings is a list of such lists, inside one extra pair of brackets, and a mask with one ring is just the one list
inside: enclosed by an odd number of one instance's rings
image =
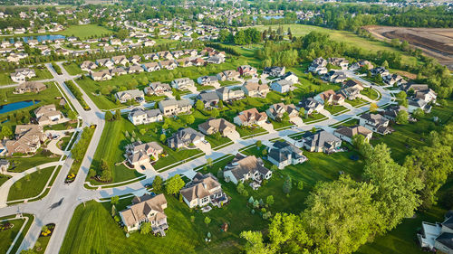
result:
[[(113, 195), (122, 195), (126, 193), (135, 193), (135, 192), (140, 192), (143, 191), (144, 184), (145, 183), (150, 183), (152, 182), (152, 178), (154, 177), (154, 174), (149, 174), (147, 175), (147, 179), (142, 180), (140, 182), (136, 183), (130, 183), (127, 185), (123, 185), (120, 187), (115, 187), (115, 188), (107, 188), (107, 189), (102, 189), (102, 190), (87, 190), (83, 187), (83, 183), (85, 182), (86, 175), (88, 174), (88, 170), (90, 168), (90, 165), (92, 164), (92, 157), (96, 151), (97, 145), (99, 144), (99, 141), (101, 139), (101, 134), (102, 130), (104, 127), (104, 119), (103, 119), (103, 112), (96, 107), (96, 105), (92, 102), (92, 99), (90, 99), (83, 89), (82, 91), (82, 97), (86, 101), (86, 103), (89, 105), (91, 110), (85, 111), (82, 106), (80, 105), (79, 101), (75, 99), (75, 97), (72, 95), (72, 92), (66, 87), (64, 84), (64, 81), (66, 80), (73, 80), (75, 83), (75, 78), (77, 76), (71, 76), (69, 75), (65, 69), (62, 66), (62, 62), (58, 62), (58, 64), (62, 67), (63, 75), (58, 75), (52, 68), (51, 64), (46, 64), (46, 67), (51, 71), (53, 74), (53, 81), (56, 81), (60, 88), (63, 90), (64, 94), (67, 96), (68, 99), (71, 100), (72, 105), (74, 106), (74, 109), (79, 113), (80, 118), (82, 118), (83, 121), (83, 127), (90, 126), (90, 125), (96, 125), (96, 129), (94, 131), (94, 135), (92, 136), (92, 141), (90, 145), (88, 146), (87, 153), (82, 161), (82, 166), (81, 169), (79, 170), (79, 173), (77, 174), (77, 177), (75, 181), (71, 184), (66, 184), (64, 183), (64, 179), (66, 177), (66, 174), (68, 174), (69, 170), (71, 169), (72, 165), (72, 157), (69, 156), (66, 158), (66, 160), (63, 162), (63, 167), (58, 174), (55, 182), (53, 183), (51, 191), (45, 196), (42, 200), (36, 201), (36, 202), (29, 202), (29, 203), (22, 203), (18, 205), (13, 205), (13, 206), (7, 206), (0, 208), (0, 217), (6, 216), (6, 215), (11, 215), (11, 214), (16, 214), (18, 212), (25, 212), (25, 213), (32, 213), (35, 216), (35, 221), (26, 234), (24, 241), (22, 242), (20, 250), (22, 249), (29, 249), (34, 246), (34, 243), (36, 242), (39, 233), (41, 231), (41, 228), (43, 225), (48, 224), (48, 223), (55, 223), (55, 230), (53, 231), (53, 236), (51, 240), (49, 241), (49, 245), (47, 246), (47, 249), (45, 253), (58, 253), (60, 247), (63, 244), (63, 239), (66, 233), (66, 230), (68, 229), (69, 222), (71, 221), (72, 218), (72, 213), (74, 212), (75, 208), (81, 204), (82, 202), (89, 201), (92, 199), (99, 199), (99, 198), (105, 198), (105, 197), (111, 197)], [(355, 77), (355, 75), (351, 72), (348, 72), (348, 75), (350, 77)], [(366, 80), (363, 80), (363, 83), (367, 85), (371, 85), (369, 82)], [(2, 87), (5, 88), (5, 87)], [(390, 91), (382, 89), (381, 87), (374, 87), (374, 89), (377, 89), (379, 92), (381, 92), (381, 99), (377, 102), (378, 106), (383, 106), (387, 105), (391, 102), (391, 96), (390, 96)], [(294, 129), (285, 129), (282, 131), (273, 131), (270, 132), (269, 134), (263, 135), (263, 136), (255, 136), (253, 138), (249, 138), (246, 140), (243, 139), (237, 139), (235, 143), (233, 143), (230, 146), (226, 146), (222, 149), (219, 149), (217, 151), (212, 151), (210, 155), (207, 155), (205, 157), (200, 157), (195, 160), (186, 162), (182, 165), (175, 166), (163, 173), (160, 174), (162, 178), (167, 179), (171, 177), (172, 175), (175, 174), (185, 174), (188, 175), (188, 177), (191, 177), (195, 174), (193, 171), (193, 168), (199, 166), (199, 165), (204, 165), (207, 162), (207, 157), (213, 158), (214, 160), (227, 154), (235, 154), (240, 148), (253, 145), (257, 140), (262, 140), (262, 141), (267, 141), (269, 139), (275, 138), (275, 137), (284, 137), (287, 138), (286, 136), (294, 133), (298, 133), (301, 131), (306, 131), (310, 130), (313, 127), (316, 128), (327, 128), (332, 124), (341, 122), (343, 120), (346, 120), (348, 118), (355, 118), (356, 115), (365, 112), (369, 110), (370, 106), (363, 106), (361, 108), (351, 108), (350, 111), (339, 115), (339, 116), (331, 116), (330, 118), (314, 123), (314, 124), (309, 124), (309, 125), (301, 125), (299, 127), (296, 127)], [(2, 186), (3, 188), (4, 186)], [(2, 189), (0, 189), (0, 193)], [(7, 197), (7, 194), (6, 194)], [(2, 200), (5, 200), (5, 197), (3, 197), (0, 194), (0, 206), (2, 203)]]

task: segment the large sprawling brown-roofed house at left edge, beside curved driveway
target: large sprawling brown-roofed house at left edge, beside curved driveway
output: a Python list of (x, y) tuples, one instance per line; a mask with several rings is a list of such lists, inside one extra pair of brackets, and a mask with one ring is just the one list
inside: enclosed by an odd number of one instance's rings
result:
[(7, 155), (35, 153), (47, 139), (43, 127), (39, 125), (17, 125), (14, 135), (13, 140), (5, 143)]

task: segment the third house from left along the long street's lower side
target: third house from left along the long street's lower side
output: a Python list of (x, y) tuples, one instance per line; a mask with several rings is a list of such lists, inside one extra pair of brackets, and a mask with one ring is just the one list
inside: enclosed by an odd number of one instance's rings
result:
[(272, 171), (265, 168), (263, 160), (256, 158), (255, 155), (237, 154), (233, 161), (224, 168), (226, 182), (231, 181), (235, 184), (244, 183), (250, 179), (255, 182), (255, 186), (259, 186), (263, 180), (268, 180), (271, 176)]

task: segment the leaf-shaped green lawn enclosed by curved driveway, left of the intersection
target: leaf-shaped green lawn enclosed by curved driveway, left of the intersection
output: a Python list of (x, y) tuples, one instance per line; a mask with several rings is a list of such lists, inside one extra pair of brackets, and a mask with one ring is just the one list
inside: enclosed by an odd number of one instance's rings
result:
[[(8, 201), (33, 198), (43, 192), (45, 183), (53, 173), (55, 167), (42, 168), (41, 170), (25, 176), (11, 186)], [(29, 180), (26, 178), (29, 177)]]

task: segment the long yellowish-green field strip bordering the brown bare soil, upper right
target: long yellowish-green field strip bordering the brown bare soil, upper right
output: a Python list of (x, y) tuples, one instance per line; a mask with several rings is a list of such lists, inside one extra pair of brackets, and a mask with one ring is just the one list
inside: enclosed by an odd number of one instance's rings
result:
[[(293, 33), (293, 36), (304, 36), (307, 33), (313, 32), (313, 31), (318, 31), (322, 33), (328, 33), (333, 39), (333, 41), (337, 42), (345, 42), (349, 45), (354, 45), (356, 47), (361, 48), (362, 50), (365, 51), (373, 51), (373, 52), (378, 52), (378, 51), (389, 51), (389, 52), (400, 52), (399, 50), (391, 47), (385, 42), (380, 42), (377, 40), (368, 40), (362, 37), (359, 37), (357, 34), (352, 33), (352, 32), (347, 32), (347, 31), (338, 31), (338, 30), (333, 30), (333, 29), (327, 29), (319, 26), (314, 26), (314, 25), (308, 25), (308, 24), (283, 24), (284, 30), (287, 31), (288, 27), (291, 29), (291, 33)], [(269, 25), (258, 25), (255, 26), (256, 29), (260, 31), (264, 31), (265, 29), (269, 28)], [(270, 25), (273, 30), (276, 30), (279, 25)], [(405, 52), (400, 52), (401, 53), (401, 59), (405, 64), (414, 64), (417, 62), (417, 59), (408, 55)]]

